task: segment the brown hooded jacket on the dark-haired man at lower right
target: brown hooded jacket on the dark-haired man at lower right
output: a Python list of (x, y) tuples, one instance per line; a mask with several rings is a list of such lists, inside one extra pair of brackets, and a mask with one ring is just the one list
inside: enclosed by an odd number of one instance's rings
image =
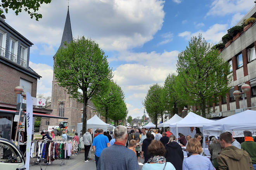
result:
[(228, 146), (217, 156), (219, 170), (254, 170), (249, 154), (235, 146)]

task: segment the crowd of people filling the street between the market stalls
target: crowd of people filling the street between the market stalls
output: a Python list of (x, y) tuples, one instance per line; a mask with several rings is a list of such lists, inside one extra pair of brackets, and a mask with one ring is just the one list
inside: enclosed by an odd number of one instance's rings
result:
[[(92, 160), (89, 152), (93, 148), (97, 170), (138, 170), (138, 162), (144, 162), (142, 170), (256, 170), (256, 142), (250, 131), (244, 131), (241, 144), (229, 132), (210, 136), (211, 156), (202, 155), (202, 133), (197, 132), (194, 138), (181, 133), (176, 138), (170, 129), (119, 125), (114, 134), (97, 129), (94, 135), (88, 129), (83, 135), (85, 162)], [(183, 151), (187, 152), (185, 159)]]

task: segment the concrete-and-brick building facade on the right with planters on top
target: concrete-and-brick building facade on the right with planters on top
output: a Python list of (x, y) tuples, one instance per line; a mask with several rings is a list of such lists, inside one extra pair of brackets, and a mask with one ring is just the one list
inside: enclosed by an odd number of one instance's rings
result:
[[(237, 24), (241, 26), (244, 19), (256, 17), (256, 6), (254, 6)], [(241, 112), (243, 109), (242, 97), (235, 98), (234, 90), (240, 90), (242, 84), (251, 86), (251, 90), (246, 92), (246, 109), (256, 110), (256, 24), (243, 31), (240, 36), (221, 51), (222, 58), (227, 61), (232, 71), (232, 82), (229, 84), (231, 90), (227, 96), (221, 97), (219, 103), (213, 104), (207, 117), (226, 117)], [(242, 92), (242, 91), (241, 91)], [(215, 112), (215, 114), (214, 114)]]

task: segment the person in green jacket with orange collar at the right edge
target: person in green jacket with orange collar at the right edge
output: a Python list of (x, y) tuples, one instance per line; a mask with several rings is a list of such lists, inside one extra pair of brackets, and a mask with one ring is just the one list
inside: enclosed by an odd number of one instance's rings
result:
[(244, 131), (244, 142), (241, 143), (241, 148), (249, 153), (253, 168), (256, 170), (256, 142), (253, 141), (251, 131)]

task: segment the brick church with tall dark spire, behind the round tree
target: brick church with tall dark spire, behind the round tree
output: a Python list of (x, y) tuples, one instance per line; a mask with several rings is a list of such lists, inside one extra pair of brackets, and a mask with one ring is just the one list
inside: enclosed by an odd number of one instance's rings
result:
[[(72, 40), (73, 40), (73, 36), (72, 36), (69, 9), (68, 9), (64, 31), (61, 39), (61, 45), (59, 49), (61, 49), (61, 47), (64, 46), (65, 41), (67, 43), (70, 43)], [(55, 60), (55, 55), (54, 55), (54, 60)], [(70, 95), (66, 92), (66, 88), (58, 85), (58, 82), (55, 79), (55, 74), (54, 74), (53, 81), (52, 81), (52, 105), (51, 105), (52, 114), (60, 117), (67, 117), (68, 119), (64, 120), (64, 119), (43, 118), (41, 120), (40, 130), (46, 130), (48, 129), (48, 126), (55, 126), (59, 124), (60, 121), (67, 121), (68, 126), (73, 127), (72, 129), (76, 129), (77, 123), (82, 122), (81, 109), (83, 108), (83, 103), (80, 103), (78, 102), (78, 100), (72, 99), (69, 97)], [(97, 114), (97, 110), (94, 108), (93, 103), (89, 100), (87, 105), (87, 120), (92, 118), (95, 114)], [(100, 118), (102, 119), (103, 117), (101, 116)]]

